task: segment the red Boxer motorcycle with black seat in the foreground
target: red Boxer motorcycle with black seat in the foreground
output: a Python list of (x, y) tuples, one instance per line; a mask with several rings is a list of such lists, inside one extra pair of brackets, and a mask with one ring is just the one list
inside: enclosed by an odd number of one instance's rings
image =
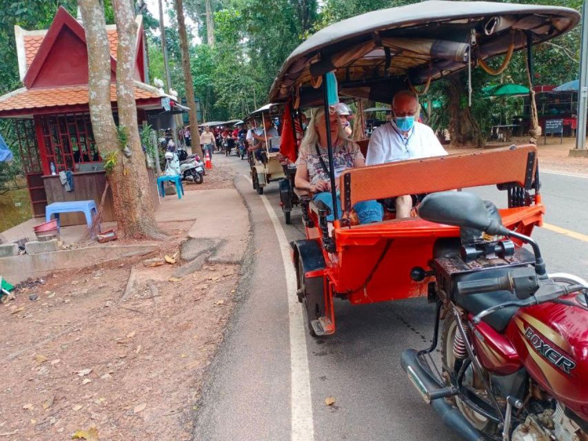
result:
[(437, 305), (431, 347), (402, 354), (425, 402), (469, 441), (588, 440), (588, 283), (548, 275), (534, 240), (472, 193), (430, 194), (418, 214), (461, 232), (412, 271)]

